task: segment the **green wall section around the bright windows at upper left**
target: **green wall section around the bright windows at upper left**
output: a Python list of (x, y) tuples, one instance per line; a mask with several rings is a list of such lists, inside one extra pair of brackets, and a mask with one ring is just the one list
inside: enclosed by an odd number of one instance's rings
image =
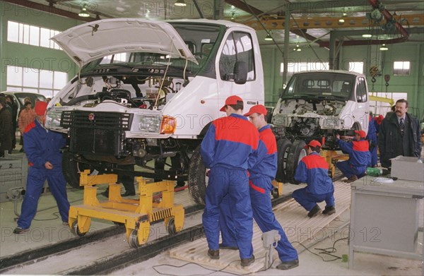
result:
[[(46, 9), (48, 7), (46, 6)], [(7, 41), (8, 20), (52, 30), (64, 31), (75, 25), (83, 23), (57, 16), (52, 13), (38, 11), (33, 8), (17, 6), (4, 1), (0, 2), (0, 60), (1, 76), (0, 90), (6, 90), (6, 66), (24, 66), (44, 69), (49, 71), (62, 71), (68, 73), (71, 79), (76, 75), (76, 64), (69, 59), (64, 51), (36, 47), (33, 45), (20, 44)]]

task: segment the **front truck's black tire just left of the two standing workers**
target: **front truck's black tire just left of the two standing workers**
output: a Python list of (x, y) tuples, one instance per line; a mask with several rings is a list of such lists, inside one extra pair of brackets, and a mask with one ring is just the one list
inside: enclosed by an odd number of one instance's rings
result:
[(200, 154), (200, 145), (194, 150), (189, 164), (189, 192), (193, 200), (200, 205), (205, 205), (206, 186), (206, 167)]

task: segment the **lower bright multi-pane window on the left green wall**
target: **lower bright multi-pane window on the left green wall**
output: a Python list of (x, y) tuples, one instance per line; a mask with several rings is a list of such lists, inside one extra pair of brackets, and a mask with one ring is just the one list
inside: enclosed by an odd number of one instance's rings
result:
[(68, 82), (68, 73), (20, 66), (7, 66), (8, 91), (37, 92), (53, 97)]

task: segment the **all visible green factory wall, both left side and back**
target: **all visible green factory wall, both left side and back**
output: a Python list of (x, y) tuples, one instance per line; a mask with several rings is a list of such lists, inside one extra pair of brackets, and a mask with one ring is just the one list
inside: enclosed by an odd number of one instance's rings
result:
[[(4, 1), (0, 2), (0, 16), (1, 91), (6, 90), (7, 65), (66, 71), (69, 79), (76, 75), (78, 72), (76, 64), (61, 50), (7, 42), (7, 21), (13, 20), (59, 31), (81, 24), (83, 21), (16, 6)], [(410, 102), (408, 112), (421, 117), (424, 113), (424, 42), (389, 44), (388, 47), (389, 50), (386, 52), (379, 51), (377, 46), (342, 47), (339, 64), (343, 68), (343, 64), (348, 64), (348, 61), (363, 61), (370, 90), (372, 83), (367, 72), (370, 64), (378, 64), (382, 76), (376, 78), (375, 91), (386, 90), (383, 76), (389, 74), (391, 76), (389, 92), (407, 92), (408, 102)], [(261, 56), (264, 66), (265, 102), (272, 106), (277, 102), (283, 87), (283, 77), (280, 73), (283, 54), (277, 47), (267, 45), (261, 47)], [(308, 47), (302, 47), (302, 52), (293, 52), (290, 49), (288, 54), (289, 62), (319, 61), (319, 57), (327, 62), (329, 50), (314, 46), (312, 51)], [(393, 61), (411, 61), (410, 76), (393, 76)]]

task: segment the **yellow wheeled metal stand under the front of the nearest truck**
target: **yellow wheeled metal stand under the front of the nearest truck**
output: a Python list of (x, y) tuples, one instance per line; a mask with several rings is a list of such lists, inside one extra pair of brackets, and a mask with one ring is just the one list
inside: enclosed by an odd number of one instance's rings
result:
[[(146, 184), (142, 177), (139, 182), (140, 198), (123, 199), (117, 174), (90, 176), (90, 170), (81, 172), (80, 186), (84, 186), (82, 205), (69, 209), (69, 227), (76, 236), (84, 236), (90, 228), (91, 218), (110, 220), (115, 224), (124, 224), (126, 239), (131, 247), (146, 244), (151, 222), (165, 220), (168, 234), (175, 234), (184, 225), (184, 208), (174, 204), (174, 181), (160, 181)], [(109, 200), (100, 203), (97, 198), (98, 184), (109, 184)], [(160, 203), (153, 203), (153, 193), (162, 192)]]

